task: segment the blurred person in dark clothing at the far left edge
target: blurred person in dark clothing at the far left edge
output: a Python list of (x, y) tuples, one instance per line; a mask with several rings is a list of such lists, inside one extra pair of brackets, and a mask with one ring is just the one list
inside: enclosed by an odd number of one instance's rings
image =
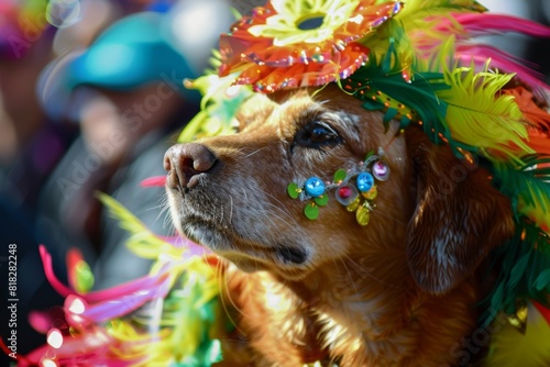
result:
[[(8, 299), (19, 299), (18, 322), (10, 330), (2, 312), (0, 334), (15, 331), (18, 351), (35, 346), (26, 315), (63, 299), (47, 285), (37, 254), (35, 234), (37, 192), (78, 129), (53, 123), (41, 110), (34, 88), (38, 74), (52, 59), (56, 29), (46, 21), (46, 2), (0, 1), (0, 274), (2, 310)], [(9, 246), (14, 248), (9, 253)], [(13, 257), (9, 257), (9, 256)], [(53, 251), (57, 264), (63, 258)], [(9, 263), (8, 259), (15, 260)], [(9, 292), (9, 265), (16, 268), (15, 292)], [(59, 266), (56, 266), (61, 268)], [(13, 277), (11, 277), (13, 278)], [(15, 297), (13, 297), (15, 296)], [(0, 364), (4, 359), (0, 358)]]

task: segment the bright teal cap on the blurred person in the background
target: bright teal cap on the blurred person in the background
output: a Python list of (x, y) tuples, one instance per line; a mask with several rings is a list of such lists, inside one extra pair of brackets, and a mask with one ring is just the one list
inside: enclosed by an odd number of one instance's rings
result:
[(165, 15), (144, 12), (129, 15), (106, 30), (79, 57), (67, 65), (67, 87), (92, 85), (114, 90), (133, 89), (177, 70), (174, 80), (182, 94), (190, 93), (184, 78), (196, 78), (185, 55), (173, 45)]

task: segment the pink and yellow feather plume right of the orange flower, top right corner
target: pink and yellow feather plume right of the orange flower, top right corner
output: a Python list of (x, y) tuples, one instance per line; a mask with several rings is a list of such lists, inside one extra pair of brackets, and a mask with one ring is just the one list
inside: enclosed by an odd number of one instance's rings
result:
[[(389, 24), (397, 22), (404, 30), (402, 33), (407, 34), (409, 41), (400, 42), (403, 46), (399, 47), (399, 53), (406, 52), (409, 47), (408, 52), (418, 58), (436, 59), (447, 40), (454, 37), (455, 59), (461, 60), (462, 65), (470, 65), (474, 62), (477, 67), (483, 67), (485, 62), (492, 58), (492, 67), (516, 74), (525, 82), (550, 91), (550, 87), (541, 80), (542, 75), (525, 66), (527, 62), (490, 45), (479, 42), (472, 44), (472, 40), (479, 36), (506, 32), (550, 37), (550, 27), (517, 16), (485, 13), (486, 9), (476, 1), (411, 0), (404, 2), (405, 7), (395, 16), (395, 21), (385, 25), (389, 29)], [(389, 33), (394, 37), (403, 38), (400, 34), (393, 31)], [(380, 56), (381, 53), (376, 51), (376, 55)]]

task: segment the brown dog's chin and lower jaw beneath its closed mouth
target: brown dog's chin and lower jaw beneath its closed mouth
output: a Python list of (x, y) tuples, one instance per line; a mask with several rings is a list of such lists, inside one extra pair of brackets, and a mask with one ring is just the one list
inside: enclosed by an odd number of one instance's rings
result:
[(211, 249), (245, 273), (273, 270), (292, 279), (301, 278), (307, 273), (309, 254), (297, 244), (253, 244), (218, 223), (197, 219), (180, 223), (187, 238)]

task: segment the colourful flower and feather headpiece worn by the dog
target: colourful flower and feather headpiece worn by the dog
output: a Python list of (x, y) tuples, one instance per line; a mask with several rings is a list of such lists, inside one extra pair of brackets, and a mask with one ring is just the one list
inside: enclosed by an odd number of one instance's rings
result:
[[(550, 115), (544, 94), (550, 87), (518, 58), (472, 42), (502, 32), (550, 36), (546, 26), (486, 13), (472, 0), (272, 0), (221, 36), (217, 84), (223, 87), (206, 88), (204, 79), (194, 84), (208, 92), (200, 118), (182, 140), (206, 133), (211, 122), (200, 121), (209, 121), (207, 115), (215, 116), (218, 131), (229, 126), (232, 114), (223, 119), (222, 105), (234, 111), (252, 92), (334, 82), (362, 100), (363, 108), (383, 111), (385, 124), (419, 125), (458, 158), (488, 169), (493, 185), (510, 199), (516, 236), (496, 249), (504, 269), (487, 310), (514, 314), (522, 310), (520, 299), (549, 307)], [(231, 85), (239, 96), (234, 104), (226, 93)], [(315, 219), (327, 191), (336, 188), (339, 199), (342, 178), (349, 182), (362, 169), (369, 171), (366, 166), (337, 173), (333, 182), (311, 177), (287, 190), (308, 201), (306, 215)], [(366, 199), (362, 207), (373, 204)], [(366, 224), (361, 214), (358, 221)], [(486, 314), (485, 322), (491, 319)]]

